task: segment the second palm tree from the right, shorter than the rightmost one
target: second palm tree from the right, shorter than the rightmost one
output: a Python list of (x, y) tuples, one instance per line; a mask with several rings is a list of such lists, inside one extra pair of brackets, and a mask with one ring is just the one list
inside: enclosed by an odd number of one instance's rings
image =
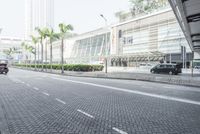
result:
[(59, 39), (59, 34), (58, 33), (54, 33), (54, 30), (51, 29), (47, 29), (46, 31), (46, 36), (49, 38), (49, 42), (50, 42), (50, 66), (51, 66), (51, 72), (52, 72), (52, 43), (53, 41)]

